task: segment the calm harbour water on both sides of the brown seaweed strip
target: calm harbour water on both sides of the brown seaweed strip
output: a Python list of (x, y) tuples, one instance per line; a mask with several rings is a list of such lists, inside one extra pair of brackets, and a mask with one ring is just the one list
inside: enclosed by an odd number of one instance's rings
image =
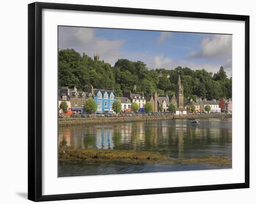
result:
[[(143, 150), (170, 158), (229, 156), (232, 154), (232, 119), (158, 120), (107, 125), (60, 127), (59, 146), (77, 149)], [(191, 171), (227, 168), (219, 165), (85, 164), (59, 162), (59, 177)], [(229, 167), (231, 168), (231, 166)]]

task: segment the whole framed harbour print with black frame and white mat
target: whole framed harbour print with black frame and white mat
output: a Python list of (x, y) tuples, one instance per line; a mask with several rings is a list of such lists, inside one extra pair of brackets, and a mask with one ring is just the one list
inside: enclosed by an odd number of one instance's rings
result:
[(249, 188), (249, 16), (28, 5), (28, 199)]

